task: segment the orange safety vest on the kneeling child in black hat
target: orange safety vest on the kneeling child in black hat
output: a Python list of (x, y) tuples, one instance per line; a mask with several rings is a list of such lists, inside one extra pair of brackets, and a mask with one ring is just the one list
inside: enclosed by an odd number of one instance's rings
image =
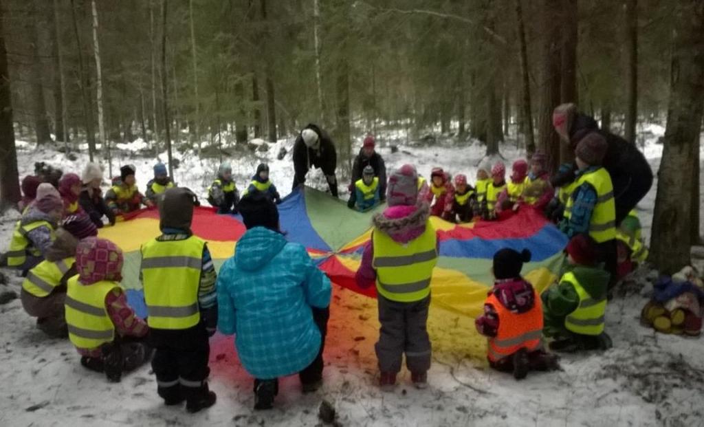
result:
[(484, 304), (491, 304), (498, 316), (496, 337), (489, 338), (486, 347), (489, 360), (501, 360), (522, 348), (532, 352), (542, 347), (543, 307), (540, 295), (535, 290), (533, 299), (535, 303), (532, 309), (518, 314), (504, 307), (494, 293), (486, 298)]

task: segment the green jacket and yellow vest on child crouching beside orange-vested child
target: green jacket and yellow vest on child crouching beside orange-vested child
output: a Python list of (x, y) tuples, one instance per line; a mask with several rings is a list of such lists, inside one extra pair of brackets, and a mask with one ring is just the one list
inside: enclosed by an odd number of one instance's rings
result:
[(543, 292), (547, 337), (599, 335), (604, 330), (609, 273), (600, 266), (565, 266), (560, 282)]

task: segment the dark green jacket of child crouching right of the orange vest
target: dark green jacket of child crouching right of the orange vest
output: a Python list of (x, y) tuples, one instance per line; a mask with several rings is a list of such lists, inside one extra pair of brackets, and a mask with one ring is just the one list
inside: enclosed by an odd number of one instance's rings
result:
[[(562, 276), (572, 271), (586, 292), (595, 299), (606, 295), (609, 283), (609, 273), (601, 266), (570, 266), (565, 264)], [(579, 296), (572, 283), (562, 281), (555, 283), (543, 292), (543, 335), (546, 337), (567, 337), (572, 335), (565, 328), (565, 317), (577, 309)]]

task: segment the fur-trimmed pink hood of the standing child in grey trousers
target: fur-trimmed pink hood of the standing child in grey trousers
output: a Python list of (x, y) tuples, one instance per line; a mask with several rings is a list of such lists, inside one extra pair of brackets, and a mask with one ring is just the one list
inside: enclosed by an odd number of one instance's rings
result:
[(427, 203), (415, 206), (391, 206), (373, 218), (377, 230), (386, 233), (394, 242), (405, 244), (425, 233), (430, 217)]

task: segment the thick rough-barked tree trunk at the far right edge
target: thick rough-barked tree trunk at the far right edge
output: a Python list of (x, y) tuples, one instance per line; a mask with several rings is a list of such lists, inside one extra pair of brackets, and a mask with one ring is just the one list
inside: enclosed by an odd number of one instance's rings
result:
[(704, 105), (704, 3), (678, 0), (674, 5), (674, 37), (670, 105), (658, 172), (650, 261), (662, 274), (689, 265), (691, 246), (694, 149), (699, 143)]

